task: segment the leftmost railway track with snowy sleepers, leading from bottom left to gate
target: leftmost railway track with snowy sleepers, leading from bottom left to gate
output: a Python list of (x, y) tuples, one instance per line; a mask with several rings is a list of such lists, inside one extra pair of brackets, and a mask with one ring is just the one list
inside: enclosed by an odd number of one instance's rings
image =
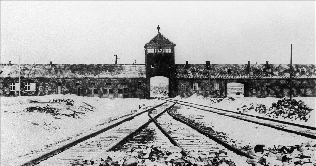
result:
[[(86, 135), (78, 140), (72, 141), (60, 148), (47, 152), (40, 157), (34, 158), (23, 166), (37, 165), (71, 165), (70, 162), (79, 161), (87, 154), (94, 154), (100, 151), (104, 152), (125, 136), (138, 129), (144, 123), (148, 122), (148, 111), (154, 108), (164, 111), (170, 104), (164, 102), (153, 108), (137, 113), (129, 118), (114, 123), (104, 129)], [(125, 127), (123, 127), (125, 126)], [(99, 138), (99, 139), (96, 139)]]

